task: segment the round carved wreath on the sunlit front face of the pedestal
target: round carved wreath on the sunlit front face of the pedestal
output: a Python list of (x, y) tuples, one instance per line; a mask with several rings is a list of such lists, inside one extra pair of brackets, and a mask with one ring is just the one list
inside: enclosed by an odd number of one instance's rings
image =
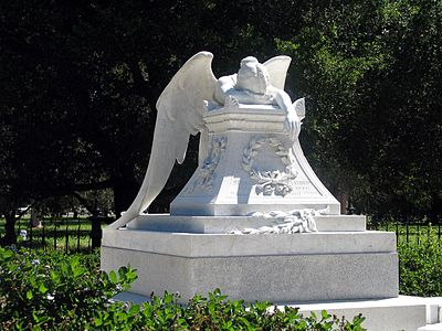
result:
[[(270, 146), (276, 156), (281, 158), (284, 164), (284, 171), (270, 170), (260, 171), (253, 167), (255, 157), (264, 145)], [(242, 168), (249, 173), (252, 181), (256, 183), (256, 193), (264, 195), (282, 195), (285, 196), (293, 190), (293, 180), (297, 175), (297, 171), (293, 169), (295, 157), (293, 152), (288, 152), (284, 145), (274, 137), (252, 138), (249, 147), (244, 149), (242, 158)]]

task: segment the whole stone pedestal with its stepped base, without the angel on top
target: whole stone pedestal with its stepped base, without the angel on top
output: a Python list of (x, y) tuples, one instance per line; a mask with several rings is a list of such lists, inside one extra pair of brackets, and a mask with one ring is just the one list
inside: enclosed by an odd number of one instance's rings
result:
[[(130, 264), (138, 270), (130, 291), (180, 292), (182, 302), (215, 288), (231, 299), (277, 303), (397, 297), (394, 234), (339, 215), (339, 202), (284, 130), (285, 118), (275, 106), (208, 111), (203, 161), (170, 215), (105, 229), (103, 269)], [(232, 234), (282, 222), (263, 213), (303, 209), (322, 210), (318, 232)]]

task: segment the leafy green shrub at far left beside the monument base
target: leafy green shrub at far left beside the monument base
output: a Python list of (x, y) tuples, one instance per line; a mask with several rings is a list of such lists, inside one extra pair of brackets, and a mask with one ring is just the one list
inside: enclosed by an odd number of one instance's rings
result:
[(0, 329), (81, 330), (136, 278), (129, 267), (107, 275), (94, 256), (0, 248)]

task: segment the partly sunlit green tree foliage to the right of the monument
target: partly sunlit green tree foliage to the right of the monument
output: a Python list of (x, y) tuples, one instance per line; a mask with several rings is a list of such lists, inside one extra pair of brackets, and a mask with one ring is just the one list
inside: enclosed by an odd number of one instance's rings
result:
[(441, 1), (325, 1), (278, 50), (307, 96), (303, 139), (359, 211), (441, 215)]

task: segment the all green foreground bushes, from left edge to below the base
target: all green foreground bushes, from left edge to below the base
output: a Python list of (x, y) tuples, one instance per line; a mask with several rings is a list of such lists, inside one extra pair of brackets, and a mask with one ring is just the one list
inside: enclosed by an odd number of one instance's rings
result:
[(128, 305), (112, 300), (136, 279), (135, 270), (98, 270), (98, 255), (17, 252), (0, 248), (1, 330), (364, 330), (323, 311), (302, 317), (297, 309), (272, 309), (269, 302), (245, 306), (219, 290), (196, 296), (187, 306), (177, 296), (151, 297)]

